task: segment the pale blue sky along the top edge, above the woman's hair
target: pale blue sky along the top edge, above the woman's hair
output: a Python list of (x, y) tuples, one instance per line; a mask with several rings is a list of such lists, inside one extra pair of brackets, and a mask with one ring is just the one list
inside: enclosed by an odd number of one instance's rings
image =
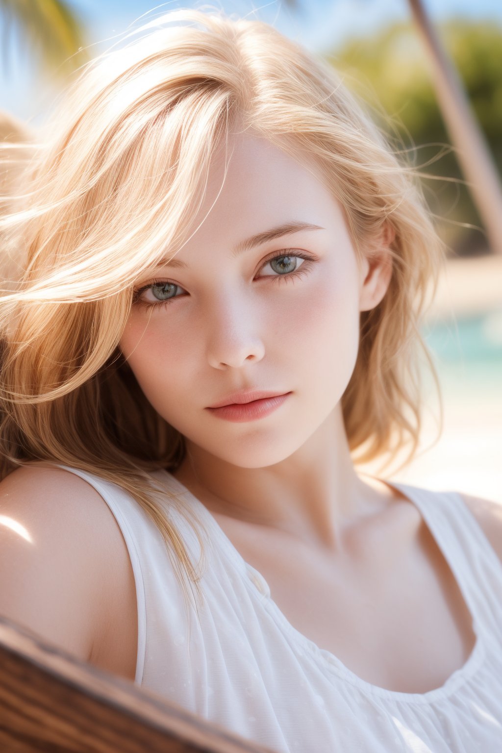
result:
[[(157, 15), (172, 8), (215, 6), (224, 8), (227, 14), (254, 17), (271, 23), (283, 34), (317, 53), (339, 47), (350, 37), (370, 35), (396, 20), (409, 18), (406, 0), (297, 0), (295, 11), (283, 0), (213, 0), (208, 3), (203, 0), (165, 3), (155, 0), (72, 0), (71, 5), (87, 21), (90, 41), (96, 44), (96, 52), (113, 44), (117, 35), (141, 15), (149, 11)], [(464, 17), (493, 20), (502, 26), (502, 0), (424, 0), (424, 6), (434, 22)], [(5, 41), (1, 17), (0, 40)], [(0, 59), (0, 108), (36, 125), (50, 107), (50, 97), (50, 86), (38, 75), (36, 57), (16, 33), (11, 33)]]

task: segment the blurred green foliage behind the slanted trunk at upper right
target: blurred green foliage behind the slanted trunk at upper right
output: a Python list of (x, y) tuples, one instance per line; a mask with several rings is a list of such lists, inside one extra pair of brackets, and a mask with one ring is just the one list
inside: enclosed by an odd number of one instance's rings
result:
[[(502, 175), (502, 28), (452, 19), (437, 31)], [(412, 21), (352, 39), (327, 59), (370, 104), (370, 114), (390, 134), (394, 148), (411, 149), (408, 159), (422, 172), (455, 178), (422, 179), (437, 228), (455, 254), (484, 252), (483, 233), (463, 227), (481, 227), (481, 221), (467, 187), (456, 182), (464, 176), (437, 104), (431, 61)]]

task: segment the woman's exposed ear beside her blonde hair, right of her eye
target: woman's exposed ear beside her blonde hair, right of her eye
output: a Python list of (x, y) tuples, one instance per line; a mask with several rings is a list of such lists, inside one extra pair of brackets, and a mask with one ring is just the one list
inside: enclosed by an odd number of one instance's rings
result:
[(370, 311), (378, 306), (387, 292), (392, 276), (389, 247), (396, 236), (394, 227), (386, 222), (379, 238), (371, 245), (361, 268), (359, 310)]

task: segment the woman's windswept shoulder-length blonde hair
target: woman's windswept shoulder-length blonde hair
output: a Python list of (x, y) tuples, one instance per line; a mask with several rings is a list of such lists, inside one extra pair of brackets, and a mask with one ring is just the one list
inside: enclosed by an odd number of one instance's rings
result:
[(391, 282), (361, 312), (342, 395), (354, 462), (392, 458), (411, 438), (410, 460), (418, 447), (420, 349), (439, 392), (418, 325), (444, 248), (418, 172), (327, 62), (269, 24), (220, 11), (171, 11), (137, 32), (148, 33), (69, 84), (32, 143), (23, 190), (2, 197), (3, 268), (14, 258), (23, 271), (5, 276), (0, 300), (0, 476), (56, 462), (116, 483), (197, 584), (148, 473), (178, 468), (184, 437), (148, 403), (117, 343), (135, 279), (183, 244), (230, 130), (252, 128), (321, 169), (358, 261), (385, 223), (395, 231)]

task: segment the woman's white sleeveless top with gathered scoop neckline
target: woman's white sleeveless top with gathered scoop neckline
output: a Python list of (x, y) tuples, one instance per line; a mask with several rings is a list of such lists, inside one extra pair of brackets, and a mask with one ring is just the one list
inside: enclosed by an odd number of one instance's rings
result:
[[(198, 615), (190, 605), (189, 636), (186, 602), (157, 526), (116, 484), (59, 467), (102, 495), (126, 541), (138, 602), (135, 683), (280, 753), (502, 751), (502, 563), (458, 492), (386, 482), (420, 511), (476, 633), (467, 662), (441, 687), (403, 693), (357, 677), (296, 630), (210, 511), (172, 474), (155, 471), (208, 531), (204, 599)], [(167, 495), (162, 504), (196, 565), (201, 551), (192, 527)]]

